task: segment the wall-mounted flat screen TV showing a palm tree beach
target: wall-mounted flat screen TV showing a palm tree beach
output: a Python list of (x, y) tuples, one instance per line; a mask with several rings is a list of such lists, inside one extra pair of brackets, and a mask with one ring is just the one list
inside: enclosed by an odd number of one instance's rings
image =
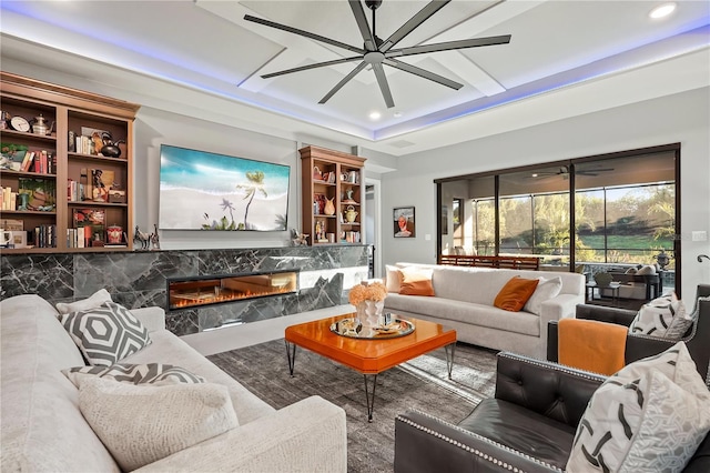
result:
[(286, 230), (284, 164), (162, 144), (161, 230)]

